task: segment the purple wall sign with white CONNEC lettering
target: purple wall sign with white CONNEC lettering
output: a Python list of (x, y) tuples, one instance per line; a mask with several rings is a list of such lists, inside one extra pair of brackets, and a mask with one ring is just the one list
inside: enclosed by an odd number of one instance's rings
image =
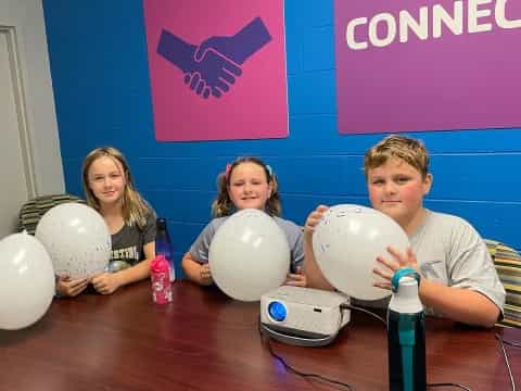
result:
[(335, 0), (339, 131), (521, 126), (521, 1)]

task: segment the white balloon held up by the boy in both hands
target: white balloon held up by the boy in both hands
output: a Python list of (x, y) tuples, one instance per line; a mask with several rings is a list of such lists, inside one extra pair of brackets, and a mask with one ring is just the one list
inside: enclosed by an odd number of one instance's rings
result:
[(372, 286), (372, 269), (382, 268), (377, 256), (392, 258), (389, 245), (402, 252), (409, 247), (402, 227), (377, 210), (355, 204), (330, 207), (313, 235), (313, 251), (323, 276), (338, 290), (361, 300), (391, 294)]

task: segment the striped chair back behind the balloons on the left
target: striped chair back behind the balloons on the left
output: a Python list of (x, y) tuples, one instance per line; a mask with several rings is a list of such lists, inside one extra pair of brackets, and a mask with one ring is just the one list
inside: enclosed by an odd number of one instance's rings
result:
[(23, 231), (25, 229), (28, 234), (35, 235), (36, 226), (41, 216), (51, 207), (65, 202), (86, 203), (73, 194), (53, 194), (34, 198), (27, 201), (20, 210), (18, 230)]

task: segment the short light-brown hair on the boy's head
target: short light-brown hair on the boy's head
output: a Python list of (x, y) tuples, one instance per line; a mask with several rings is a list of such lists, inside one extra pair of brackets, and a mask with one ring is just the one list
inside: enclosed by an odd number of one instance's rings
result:
[(430, 157), (425, 146), (410, 137), (390, 135), (366, 152), (364, 159), (366, 177), (369, 169), (380, 167), (393, 157), (415, 167), (423, 179), (429, 174)]

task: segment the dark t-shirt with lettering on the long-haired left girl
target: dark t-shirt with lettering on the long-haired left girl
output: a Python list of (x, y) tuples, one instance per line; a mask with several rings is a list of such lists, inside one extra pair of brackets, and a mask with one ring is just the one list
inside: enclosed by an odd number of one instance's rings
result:
[[(129, 266), (144, 260), (143, 245), (155, 240), (155, 212), (147, 215), (147, 224), (140, 228), (137, 224), (129, 226), (124, 224), (122, 229), (111, 236), (112, 251), (111, 264), (124, 262)], [(118, 266), (120, 269), (122, 267)]]

